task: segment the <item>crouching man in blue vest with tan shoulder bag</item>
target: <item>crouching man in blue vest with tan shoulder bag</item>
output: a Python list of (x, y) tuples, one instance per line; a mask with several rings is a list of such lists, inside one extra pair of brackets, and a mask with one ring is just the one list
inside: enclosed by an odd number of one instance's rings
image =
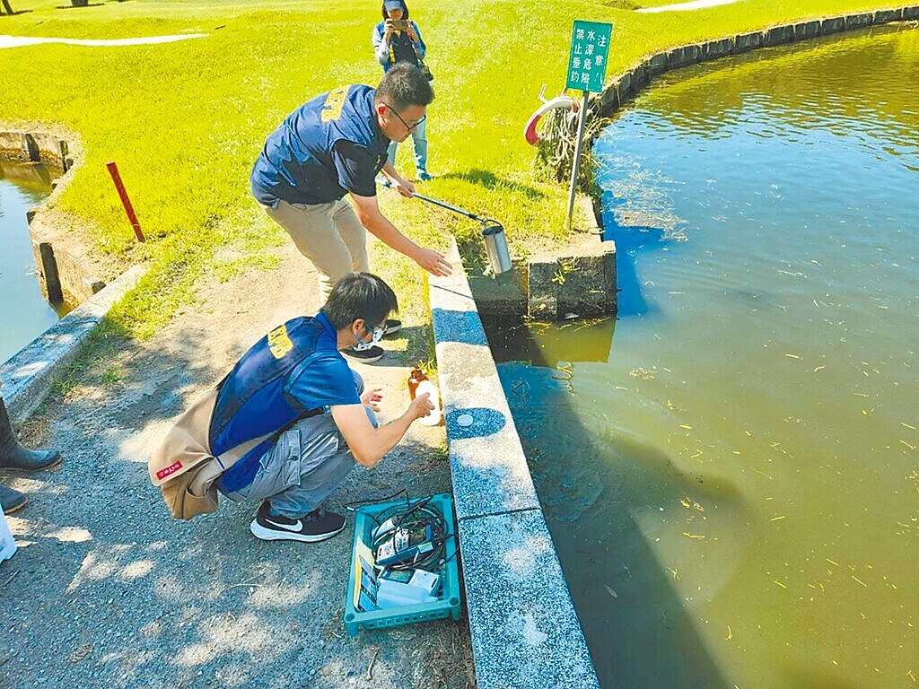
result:
[(267, 334), (215, 390), (184, 412), (153, 454), (154, 485), (176, 518), (214, 512), (217, 491), (261, 500), (250, 525), (263, 540), (315, 542), (345, 528), (323, 503), (355, 463), (372, 467), (434, 406), (419, 395), (378, 425), (380, 390), (364, 390), (340, 350), (379, 341), (396, 296), (380, 277), (350, 273), (312, 318)]

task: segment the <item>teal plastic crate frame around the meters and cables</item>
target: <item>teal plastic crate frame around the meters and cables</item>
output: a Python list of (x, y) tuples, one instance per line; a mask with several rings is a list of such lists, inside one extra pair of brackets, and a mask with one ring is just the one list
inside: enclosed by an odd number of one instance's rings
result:
[[(416, 503), (423, 498), (415, 498), (411, 503)], [(392, 503), (378, 503), (365, 505), (355, 511), (354, 543), (351, 548), (351, 572), (347, 578), (347, 591), (345, 595), (345, 628), (352, 637), (357, 636), (361, 627), (365, 629), (385, 629), (387, 627), (401, 627), (413, 622), (427, 622), (428, 620), (459, 619), (461, 613), (461, 600), (459, 593), (459, 565), (457, 563), (457, 538), (456, 523), (453, 519), (453, 500), (449, 493), (438, 493), (427, 503), (427, 507), (437, 511), (447, 522), (449, 533), (444, 544), (444, 559), (440, 570), (435, 571), (440, 575), (440, 588), (437, 601), (434, 603), (419, 603), (414, 605), (400, 605), (386, 608), (385, 610), (371, 610), (361, 612), (354, 606), (354, 587), (357, 576), (354, 553), (357, 549), (358, 539), (369, 547), (370, 533), (373, 530), (373, 519), (393, 507), (406, 506), (405, 500)]]

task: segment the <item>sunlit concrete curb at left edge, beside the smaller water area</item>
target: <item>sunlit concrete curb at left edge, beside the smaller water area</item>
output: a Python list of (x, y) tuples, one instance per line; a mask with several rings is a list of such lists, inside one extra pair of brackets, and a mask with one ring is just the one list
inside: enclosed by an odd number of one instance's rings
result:
[(0, 365), (3, 396), (14, 421), (21, 422), (35, 411), (80, 345), (147, 269), (147, 265), (130, 268)]

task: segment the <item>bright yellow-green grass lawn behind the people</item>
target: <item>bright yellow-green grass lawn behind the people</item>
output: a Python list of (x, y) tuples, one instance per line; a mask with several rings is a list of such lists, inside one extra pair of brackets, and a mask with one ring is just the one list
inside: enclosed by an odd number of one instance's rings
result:
[[(416, 0), (437, 99), (429, 109), (430, 169), (424, 191), (494, 217), (512, 252), (563, 239), (566, 190), (539, 179), (522, 136), (539, 86), (560, 91), (574, 18), (611, 21), (607, 77), (653, 52), (791, 20), (889, 6), (872, 0), (741, 0), (700, 12), (638, 15), (663, 1)], [(255, 205), (248, 175), (267, 134), (305, 99), (335, 85), (375, 85), (380, 68), (370, 31), (380, 3), (106, 2), (59, 8), (62, 0), (13, 0), (0, 34), (125, 38), (207, 33), (164, 45), (39, 45), (0, 50), (0, 122), (57, 126), (82, 141), (84, 164), (56, 209), (80, 221), (112, 265), (150, 260), (152, 271), (112, 317), (146, 336), (191, 298), (204, 271), (231, 279), (270, 268), (267, 248), (287, 241)], [(24, 11), (25, 10), (25, 11)], [(411, 146), (397, 167), (412, 170)], [(148, 242), (133, 242), (105, 162), (119, 164)], [(474, 225), (444, 211), (384, 195), (384, 212), (421, 243), (445, 233), (471, 239)], [(425, 319), (420, 269), (380, 248), (375, 270)]]

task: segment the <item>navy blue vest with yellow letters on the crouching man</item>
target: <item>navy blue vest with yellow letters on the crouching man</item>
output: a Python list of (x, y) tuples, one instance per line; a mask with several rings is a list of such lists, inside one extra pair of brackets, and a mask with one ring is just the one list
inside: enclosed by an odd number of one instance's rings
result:
[(210, 418), (210, 450), (215, 456), (235, 446), (271, 434), (251, 449), (217, 482), (221, 491), (237, 491), (255, 478), (259, 459), (289, 424), (323, 408), (304, 409), (284, 386), (289, 373), (311, 356), (337, 351), (335, 329), (319, 313), (294, 318), (255, 343), (223, 379)]

